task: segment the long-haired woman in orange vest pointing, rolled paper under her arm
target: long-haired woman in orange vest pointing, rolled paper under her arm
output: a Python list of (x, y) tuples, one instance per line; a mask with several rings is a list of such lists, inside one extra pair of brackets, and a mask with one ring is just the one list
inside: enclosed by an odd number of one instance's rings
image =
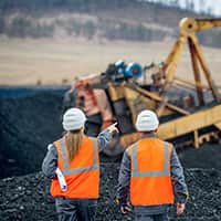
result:
[(99, 196), (99, 155), (117, 131), (115, 125), (97, 138), (84, 134), (86, 117), (78, 108), (63, 115), (65, 135), (50, 145), (43, 160), (43, 173), (52, 179), (60, 221), (93, 221)]

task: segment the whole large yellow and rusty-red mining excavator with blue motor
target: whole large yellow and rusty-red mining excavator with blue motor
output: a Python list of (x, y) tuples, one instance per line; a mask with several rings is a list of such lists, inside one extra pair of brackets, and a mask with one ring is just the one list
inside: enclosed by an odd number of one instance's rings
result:
[[(159, 137), (172, 141), (177, 148), (198, 148), (211, 138), (219, 139), (221, 95), (197, 38), (197, 32), (214, 27), (221, 27), (221, 19), (185, 18), (180, 21), (180, 35), (160, 65), (141, 69), (137, 63), (127, 65), (118, 61), (101, 75), (75, 81), (72, 88), (74, 105), (84, 109), (88, 117), (88, 135), (96, 136), (106, 126), (118, 122), (120, 133), (106, 150), (107, 155), (119, 154), (139, 138), (134, 125), (138, 113), (146, 108), (155, 110), (159, 117)], [(186, 44), (194, 82), (176, 76)], [(150, 69), (157, 72), (151, 74), (148, 83), (146, 74)], [(207, 86), (200, 72), (204, 74)]]

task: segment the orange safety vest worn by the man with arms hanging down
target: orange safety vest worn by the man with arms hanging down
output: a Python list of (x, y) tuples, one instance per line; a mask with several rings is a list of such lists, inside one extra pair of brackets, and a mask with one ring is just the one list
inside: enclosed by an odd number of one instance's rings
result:
[(143, 138), (130, 146), (127, 151), (131, 157), (131, 204), (173, 203), (170, 177), (172, 145), (158, 138)]

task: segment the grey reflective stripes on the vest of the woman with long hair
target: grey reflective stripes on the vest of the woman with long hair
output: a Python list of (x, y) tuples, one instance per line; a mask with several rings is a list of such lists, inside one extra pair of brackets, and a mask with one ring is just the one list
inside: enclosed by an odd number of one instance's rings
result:
[(63, 164), (64, 164), (64, 168), (62, 170), (63, 175), (74, 175), (74, 173), (80, 173), (84, 171), (97, 170), (99, 168), (98, 160), (97, 160), (97, 144), (96, 144), (97, 141), (94, 138), (90, 138), (90, 139), (93, 143), (93, 165), (88, 167), (80, 167), (80, 168), (74, 168), (74, 169), (69, 168), (69, 158), (67, 158), (64, 139), (60, 140)]

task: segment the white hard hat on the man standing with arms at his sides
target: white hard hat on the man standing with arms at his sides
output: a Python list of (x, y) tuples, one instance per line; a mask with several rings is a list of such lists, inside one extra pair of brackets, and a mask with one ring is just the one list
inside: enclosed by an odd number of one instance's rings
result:
[(159, 120), (154, 112), (146, 109), (138, 114), (135, 126), (139, 131), (151, 131), (158, 128)]

